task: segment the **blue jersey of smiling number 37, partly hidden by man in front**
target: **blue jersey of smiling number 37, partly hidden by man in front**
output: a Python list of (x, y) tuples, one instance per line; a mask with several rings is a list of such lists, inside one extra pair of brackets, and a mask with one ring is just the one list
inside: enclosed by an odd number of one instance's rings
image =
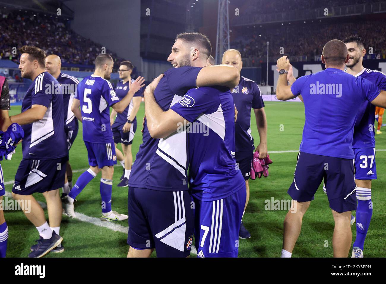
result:
[[(347, 70), (345, 70), (347, 71)], [(386, 90), (386, 75), (378, 70), (363, 68), (355, 77), (362, 77), (377, 85), (379, 90)], [(365, 100), (359, 107), (355, 126), (352, 148), (374, 148), (374, 116), (375, 105)]]

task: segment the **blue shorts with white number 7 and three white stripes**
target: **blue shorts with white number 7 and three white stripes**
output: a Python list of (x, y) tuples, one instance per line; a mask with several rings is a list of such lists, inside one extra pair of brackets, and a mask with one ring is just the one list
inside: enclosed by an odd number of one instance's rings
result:
[(220, 200), (193, 197), (197, 257), (237, 257), (246, 198), (245, 186)]

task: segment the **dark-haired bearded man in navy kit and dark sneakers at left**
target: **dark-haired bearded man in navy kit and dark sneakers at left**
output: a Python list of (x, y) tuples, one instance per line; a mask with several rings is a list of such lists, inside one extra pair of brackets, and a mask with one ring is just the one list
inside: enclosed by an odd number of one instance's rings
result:
[[(12, 197), (29, 202), (25, 216), (39, 232), (37, 245), (29, 257), (42, 257), (55, 248), (64, 250), (59, 235), (62, 202), (59, 188), (64, 185), (68, 149), (64, 134), (63, 95), (56, 92), (58, 81), (44, 71), (46, 54), (40, 48), (23, 46), (20, 49), (19, 69), (23, 78), (32, 80), (22, 102), (22, 113), (11, 116), (12, 122), (24, 130), (23, 159), (15, 175)], [(44, 211), (32, 194), (40, 192), (46, 198), (49, 225)]]

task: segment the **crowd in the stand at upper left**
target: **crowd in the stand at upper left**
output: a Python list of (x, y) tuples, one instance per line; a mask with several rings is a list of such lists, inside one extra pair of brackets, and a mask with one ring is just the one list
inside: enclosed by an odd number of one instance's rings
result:
[[(23, 45), (34, 45), (46, 54), (57, 54), (62, 63), (93, 65), (102, 46), (76, 34), (69, 27), (66, 17), (44, 15), (31, 11), (0, 11), (0, 59), (18, 63), (19, 55), (14, 54)], [(17, 50), (18, 51), (18, 50)], [(106, 50), (116, 63), (123, 61), (117, 54)], [(114, 66), (116, 67), (116, 66)]]

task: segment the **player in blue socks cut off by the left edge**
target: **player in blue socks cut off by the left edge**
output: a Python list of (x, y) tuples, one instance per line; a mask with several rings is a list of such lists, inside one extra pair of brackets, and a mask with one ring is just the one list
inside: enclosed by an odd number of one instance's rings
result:
[[(9, 86), (7, 78), (0, 76), (0, 130), (6, 131), (12, 124), (9, 118), (8, 110), (10, 109)], [(5, 194), (3, 168), (0, 164), (0, 257), (5, 257), (7, 253), (8, 226), (4, 219), (1, 202)]]

